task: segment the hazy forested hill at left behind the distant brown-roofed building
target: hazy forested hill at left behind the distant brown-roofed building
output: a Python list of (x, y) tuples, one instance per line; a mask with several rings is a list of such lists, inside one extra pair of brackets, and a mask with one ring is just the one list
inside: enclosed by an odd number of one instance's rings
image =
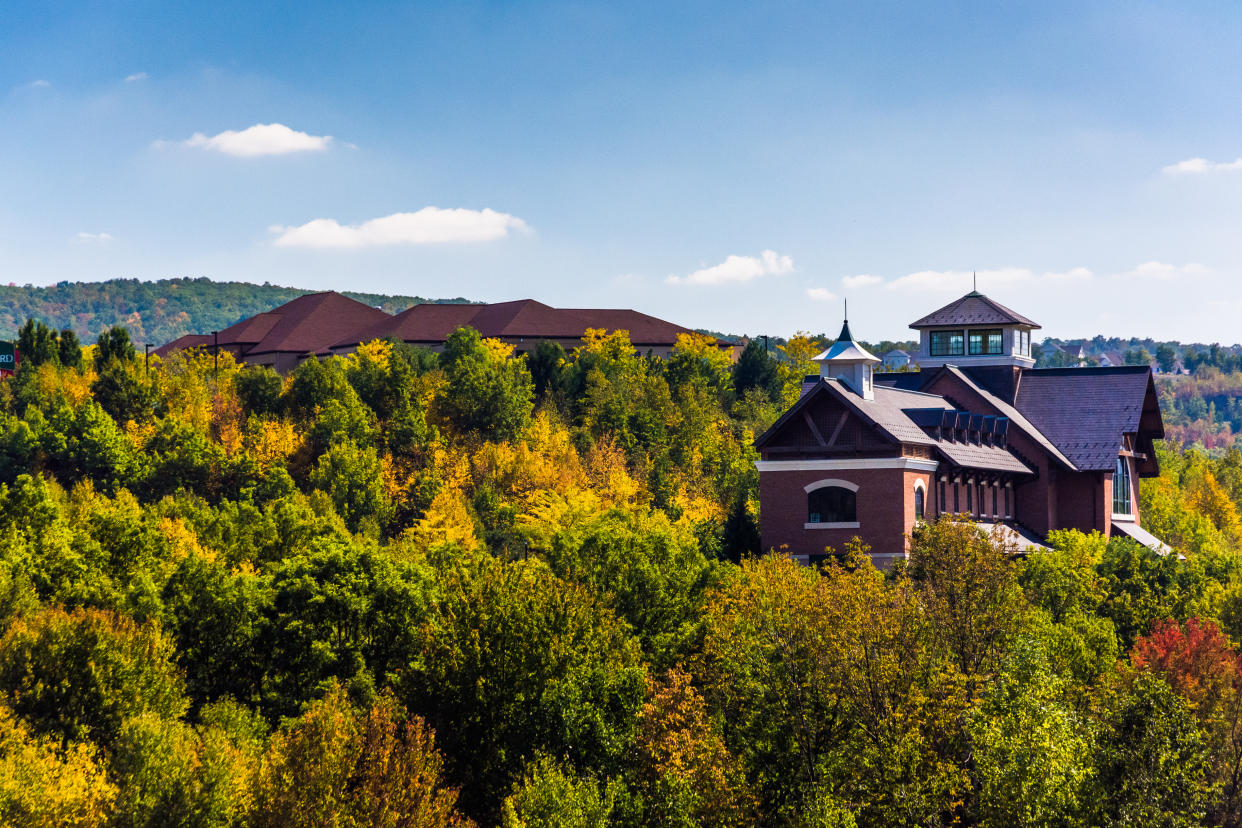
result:
[[(35, 318), (56, 329), (72, 328), (83, 341), (94, 341), (112, 325), (124, 325), (134, 341), (163, 345), (183, 334), (227, 328), (304, 293), (312, 290), (207, 278), (60, 282), (46, 288), (0, 286), (0, 339), (15, 338), (22, 323)], [(466, 302), (462, 298), (342, 293), (389, 313), (420, 302)]]

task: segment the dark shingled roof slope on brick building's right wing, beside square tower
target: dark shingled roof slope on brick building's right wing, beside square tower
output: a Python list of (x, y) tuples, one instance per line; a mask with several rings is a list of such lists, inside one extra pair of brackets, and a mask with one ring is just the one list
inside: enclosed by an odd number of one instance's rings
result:
[(1037, 369), (1022, 372), (1017, 407), (1076, 467), (1112, 472), (1123, 434), (1139, 432), (1149, 392), (1146, 365)]

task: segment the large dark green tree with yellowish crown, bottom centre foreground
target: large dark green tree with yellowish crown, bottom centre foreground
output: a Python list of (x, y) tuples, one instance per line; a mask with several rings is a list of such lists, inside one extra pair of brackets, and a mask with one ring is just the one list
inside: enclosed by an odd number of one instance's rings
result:
[(442, 597), (402, 698), (440, 734), (467, 812), (496, 819), (538, 755), (617, 775), (645, 678), (625, 622), (540, 561), (443, 557)]

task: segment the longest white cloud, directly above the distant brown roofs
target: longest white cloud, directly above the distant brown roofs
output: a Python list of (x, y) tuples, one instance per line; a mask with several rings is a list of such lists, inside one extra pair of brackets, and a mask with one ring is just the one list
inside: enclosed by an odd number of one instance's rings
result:
[(395, 212), (360, 225), (342, 225), (335, 218), (315, 218), (298, 227), (270, 227), (279, 237), (277, 247), (381, 247), (389, 245), (438, 245), (487, 242), (504, 238), (510, 231), (529, 232), (527, 222), (496, 210), (424, 207), (417, 212)]

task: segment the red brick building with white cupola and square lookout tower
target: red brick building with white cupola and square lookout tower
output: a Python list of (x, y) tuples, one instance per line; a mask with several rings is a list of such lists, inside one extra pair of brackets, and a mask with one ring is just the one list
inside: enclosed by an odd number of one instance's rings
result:
[(1146, 366), (1033, 369), (1038, 325), (977, 292), (912, 328), (920, 370), (876, 374), (847, 322), (755, 442), (764, 549), (811, 560), (858, 536), (883, 566), (941, 513), (1020, 546), (1079, 529), (1165, 549), (1139, 524), (1164, 437)]

